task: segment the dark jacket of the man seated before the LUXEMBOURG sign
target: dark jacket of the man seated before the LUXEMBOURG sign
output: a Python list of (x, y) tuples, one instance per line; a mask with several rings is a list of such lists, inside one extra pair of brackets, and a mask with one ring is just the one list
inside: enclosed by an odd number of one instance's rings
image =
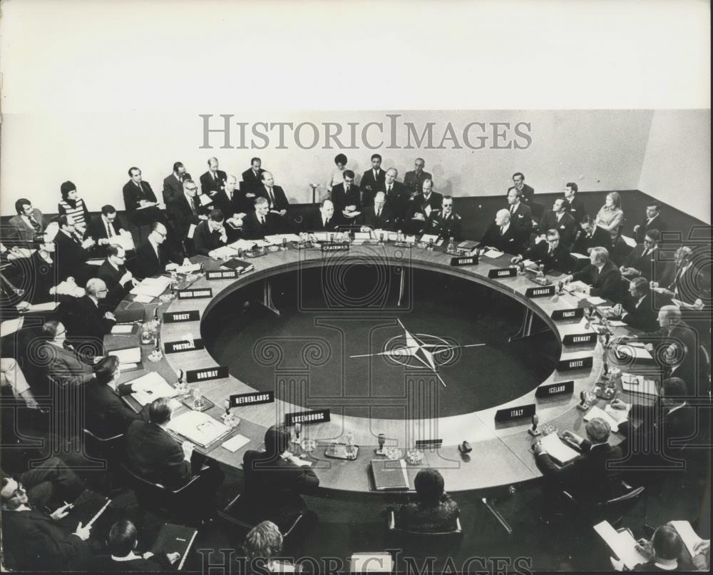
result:
[(266, 452), (249, 449), (242, 459), (245, 496), (250, 498), (259, 521), (284, 525), (304, 509), (300, 494), (311, 494), (319, 478), (309, 467), (298, 467), (283, 459), (272, 459)]

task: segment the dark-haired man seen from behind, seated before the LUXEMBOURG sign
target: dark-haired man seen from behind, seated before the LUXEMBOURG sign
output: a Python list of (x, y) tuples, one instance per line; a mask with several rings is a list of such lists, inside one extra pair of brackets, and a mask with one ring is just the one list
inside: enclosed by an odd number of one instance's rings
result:
[(273, 425), (265, 432), (265, 451), (247, 450), (242, 459), (245, 497), (250, 500), (257, 521), (272, 521), (280, 529), (304, 512), (301, 494), (312, 494), (319, 478), (302, 459), (287, 451), (289, 432)]

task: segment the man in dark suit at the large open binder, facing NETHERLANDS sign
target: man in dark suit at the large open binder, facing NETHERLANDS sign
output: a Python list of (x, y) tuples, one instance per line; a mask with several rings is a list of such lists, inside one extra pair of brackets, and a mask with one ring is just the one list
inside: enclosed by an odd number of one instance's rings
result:
[(217, 467), (201, 469), (198, 461), (194, 465), (193, 443), (178, 444), (170, 436), (166, 430), (171, 419), (169, 402), (167, 397), (153, 400), (148, 407), (148, 422), (131, 422), (126, 432), (126, 464), (139, 477), (168, 489), (179, 489), (200, 474), (200, 481), (190, 492), (194, 499), (205, 502), (222, 483), (222, 473)]

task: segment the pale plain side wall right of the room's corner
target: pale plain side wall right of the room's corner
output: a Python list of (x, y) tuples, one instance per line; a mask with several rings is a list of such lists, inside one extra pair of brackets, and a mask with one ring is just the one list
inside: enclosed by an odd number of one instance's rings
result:
[(710, 134), (710, 110), (655, 111), (636, 187), (711, 223)]

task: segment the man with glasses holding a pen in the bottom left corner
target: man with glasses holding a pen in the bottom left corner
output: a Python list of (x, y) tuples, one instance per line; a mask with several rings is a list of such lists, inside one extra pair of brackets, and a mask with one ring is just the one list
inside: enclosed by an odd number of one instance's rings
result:
[[(24, 477), (24, 476), (23, 476)], [(90, 554), (91, 526), (81, 521), (67, 534), (57, 521), (69, 514), (69, 504), (51, 514), (35, 509), (22, 482), (12, 477), (0, 481), (4, 564), (18, 571), (67, 571)]]

